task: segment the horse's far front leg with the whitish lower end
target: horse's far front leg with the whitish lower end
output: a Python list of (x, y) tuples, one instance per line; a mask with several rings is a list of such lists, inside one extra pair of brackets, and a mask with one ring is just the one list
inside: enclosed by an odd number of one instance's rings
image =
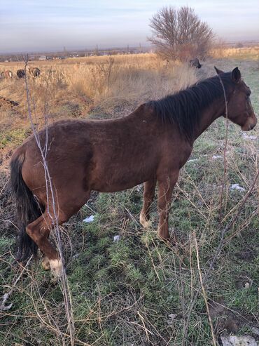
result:
[(151, 226), (150, 218), (150, 208), (153, 198), (155, 196), (155, 185), (157, 183), (156, 178), (148, 180), (144, 183), (144, 201), (141, 213), (139, 215), (139, 222), (144, 228)]

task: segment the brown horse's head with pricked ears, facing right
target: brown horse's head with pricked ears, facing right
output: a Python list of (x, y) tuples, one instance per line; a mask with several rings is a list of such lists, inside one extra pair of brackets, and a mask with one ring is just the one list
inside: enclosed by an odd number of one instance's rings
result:
[(224, 73), (216, 67), (215, 69), (222, 79), (226, 80), (225, 77), (227, 76), (231, 79), (230, 83), (228, 83), (228, 85), (231, 85), (231, 90), (230, 92), (226, 91), (228, 100), (228, 118), (233, 123), (241, 126), (241, 130), (252, 130), (257, 123), (257, 119), (251, 105), (251, 90), (241, 79), (238, 67), (233, 69), (230, 73)]

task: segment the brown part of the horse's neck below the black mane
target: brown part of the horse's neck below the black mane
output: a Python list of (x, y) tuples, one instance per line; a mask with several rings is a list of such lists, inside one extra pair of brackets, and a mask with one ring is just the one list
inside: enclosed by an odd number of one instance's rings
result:
[(202, 111), (200, 124), (195, 131), (194, 140), (196, 140), (213, 122), (214, 120), (225, 114), (225, 100), (215, 100), (206, 109)]

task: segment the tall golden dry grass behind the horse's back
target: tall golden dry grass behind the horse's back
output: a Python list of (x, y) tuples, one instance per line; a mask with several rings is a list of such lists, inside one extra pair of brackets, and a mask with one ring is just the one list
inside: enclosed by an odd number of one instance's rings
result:
[[(177, 62), (159, 60), (153, 54), (55, 60), (37, 65), (41, 68), (41, 78), (30, 79), (37, 121), (41, 119), (45, 100), (53, 119), (70, 117), (71, 113), (82, 116), (87, 112), (121, 116), (141, 102), (174, 93), (196, 80), (195, 70)], [(12, 62), (8, 68), (15, 72), (22, 64)], [(6, 69), (6, 65), (0, 65), (1, 69)], [(3, 79), (0, 95), (19, 102), (22, 114), (26, 114), (22, 80)], [(7, 119), (3, 121), (6, 123)]]

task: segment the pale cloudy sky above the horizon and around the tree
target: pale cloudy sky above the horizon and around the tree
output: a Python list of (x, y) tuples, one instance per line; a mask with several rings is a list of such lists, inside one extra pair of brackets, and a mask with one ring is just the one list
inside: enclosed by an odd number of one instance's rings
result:
[(0, 53), (148, 46), (169, 5), (194, 8), (225, 41), (259, 40), (259, 0), (0, 0)]

